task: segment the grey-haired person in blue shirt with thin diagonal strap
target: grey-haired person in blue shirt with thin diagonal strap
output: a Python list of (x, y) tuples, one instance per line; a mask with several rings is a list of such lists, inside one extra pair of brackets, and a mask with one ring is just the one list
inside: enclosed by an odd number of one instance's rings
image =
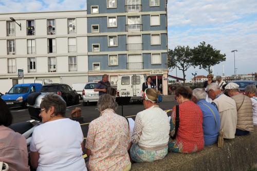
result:
[(192, 101), (203, 111), (205, 146), (217, 142), (219, 128), (221, 127), (221, 119), (219, 118), (218, 110), (205, 100), (206, 95), (207, 93), (203, 88), (196, 88), (193, 90), (192, 96)]

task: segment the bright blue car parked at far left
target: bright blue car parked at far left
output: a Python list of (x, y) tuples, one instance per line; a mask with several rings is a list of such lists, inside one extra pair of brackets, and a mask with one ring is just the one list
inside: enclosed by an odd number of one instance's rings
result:
[(26, 107), (28, 95), (40, 91), (41, 88), (42, 84), (39, 83), (16, 84), (1, 98), (8, 107)]

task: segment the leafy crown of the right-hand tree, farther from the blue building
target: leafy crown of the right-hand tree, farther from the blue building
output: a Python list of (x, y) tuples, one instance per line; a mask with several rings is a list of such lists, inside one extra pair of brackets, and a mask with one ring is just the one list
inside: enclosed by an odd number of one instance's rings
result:
[(199, 66), (200, 69), (203, 68), (209, 73), (212, 73), (211, 66), (226, 61), (225, 53), (221, 54), (221, 50), (213, 48), (210, 44), (206, 45), (205, 42), (201, 42), (200, 45), (194, 47), (194, 49), (192, 49), (192, 52), (193, 66)]

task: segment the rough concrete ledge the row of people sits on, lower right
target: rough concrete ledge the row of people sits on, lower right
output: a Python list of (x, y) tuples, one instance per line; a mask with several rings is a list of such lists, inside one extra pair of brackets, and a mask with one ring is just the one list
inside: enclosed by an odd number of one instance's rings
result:
[(155, 162), (132, 164), (136, 170), (248, 170), (257, 166), (257, 126), (248, 136), (225, 140), (224, 147), (217, 144), (205, 147), (196, 154), (168, 153), (166, 158)]

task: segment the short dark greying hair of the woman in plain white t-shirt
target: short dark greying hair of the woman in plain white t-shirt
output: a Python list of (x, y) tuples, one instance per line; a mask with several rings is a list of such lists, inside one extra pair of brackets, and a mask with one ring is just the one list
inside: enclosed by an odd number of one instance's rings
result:
[(46, 96), (42, 98), (40, 108), (45, 108), (45, 110), (48, 111), (52, 106), (54, 107), (54, 115), (61, 115), (65, 117), (66, 103), (61, 96), (50, 93), (46, 94)]

